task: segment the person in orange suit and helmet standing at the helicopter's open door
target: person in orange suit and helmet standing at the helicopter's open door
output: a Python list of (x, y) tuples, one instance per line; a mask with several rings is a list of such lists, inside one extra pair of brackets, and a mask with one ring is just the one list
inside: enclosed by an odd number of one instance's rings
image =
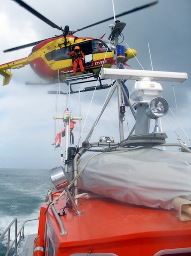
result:
[(82, 71), (83, 74), (85, 74), (84, 72), (84, 66), (83, 66), (83, 61), (82, 61), (82, 58), (84, 59), (85, 58), (85, 55), (84, 53), (82, 53), (82, 51), (80, 50), (79, 46), (76, 45), (74, 47), (74, 51), (73, 52), (66, 52), (67, 54), (71, 55), (71, 56), (74, 56), (74, 62), (73, 62), (73, 74), (76, 75), (76, 69), (77, 69), (77, 66), (79, 64), (79, 68), (80, 70)]

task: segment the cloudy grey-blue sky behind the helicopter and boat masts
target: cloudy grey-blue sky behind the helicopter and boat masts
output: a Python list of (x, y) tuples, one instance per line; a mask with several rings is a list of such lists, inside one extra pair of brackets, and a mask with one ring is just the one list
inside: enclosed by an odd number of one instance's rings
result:
[[(112, 0), (103, 0), (99, 4), (95, 4), (93, 0), (81, 0), (80, 3), (75, 0), (25, 0), (25, 2), (58, 26), (64, 28), (65, 25), (69, 25), (70, 30), (113, 16)], [(115, 14), (148, 2), (147, 0), (114, 0)], [(122, 32), (124, 41), (121, 44), (137, 51), (137, 59), (130, 59), (127, 62), (131, 66), (130, 69), (142, 69), (142, 67), (145, 70), (152, 69), (149, 42), (154, 70), (188, 74), (188, 80), (183, 83), (161, 83), (164, 90), (162, 96), (168, 101), (173, 112), (172, 114), (169, 111), (161, 122), (162, 130), (168, 136), (166, 140), (168, 143), (177, 143), (176, 134), (179, 134), (184, 143), (191, 147), (189, 140), (191, 138), (191, 1), (159, 0), (155, 6), (122, 16), (120, 20), (126, 23)], [(76, 36), (97, 38), (106, 33), (104, 39), (107, 39), (110, 34), (109, 25), (112, 23), (113, 21), (109, 21), (88, 28), (77, 32)], [(60, 31), (45, 24), (12, 0), (1, 3), (0, 24), (0, 64), (28, 56), (32, 47), (11, 53), (3, 53), (3, 50), (60, 34)], [(47, 94), (47, 91), (56, 90), (58, 84), (26, 85), (26, 81), (42, 81), (30, 66), (14, 69), (12, 74), (10, 84), (4, 87), (3, 77), (0, 75), (0, 168), (52, 169), (60, 165), (61, 150), (59, 148), (54, 150), (51, 145), (55, 137), (53, 116), (56, 96)], [(110, 81), (108, 80), (107, 83), (110, 84)], [(130, 90), (133, 81), (127, 81), (126, 85)], [(81, 88), (83, 87), (84, 84)], [(66, 90), (67, 85), (61, 84), (61, 91)], [(108, 90), (96, 91), (92, 103), (93, 92), (80, 95), (82, 128), (85, 123), (81, 141), (85, 139), (99, 114), (107, 93)], [(61, 95), (58, 103), (57, 115), (62, 115), (66, 109), (66, 96)], [(73, 116), (79, 116), (78, 94), (71, 95), (70, 104)], [(100, 136), (113, 136), (115, 142), (119, 140), (117, 109), (115, 93), (90, 141), (98, 141)], [(180, 128), (179, 123), (184, 130)], [(124, 137), (128, 136), (133, 125), (133, 117), (129, 109), (126, 109)], [(58, 121), (56, 132), (60, 129), (63, 129), (63, 122)], [(154, 130), (153, 123), (152, 130)], [(79, 141), (79, 122), (73, 132), (75, 146)]]

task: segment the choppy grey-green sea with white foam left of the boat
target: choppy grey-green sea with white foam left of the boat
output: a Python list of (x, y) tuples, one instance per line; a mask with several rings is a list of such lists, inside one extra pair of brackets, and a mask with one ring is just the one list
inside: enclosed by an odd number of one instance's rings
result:
[[(39, 217), (49, 188), (53, 187), (48, 169), (0, 169), (0, 234), (13, 219), (18, 219), (18, 231), (24, 221)], [(15, 235), (11, 228), (11, 241)], [(37, 234), (38, 221), (27, 222), (24, 235)], [(5, 256), (7, 236), (0, 241), (0, 256)]]

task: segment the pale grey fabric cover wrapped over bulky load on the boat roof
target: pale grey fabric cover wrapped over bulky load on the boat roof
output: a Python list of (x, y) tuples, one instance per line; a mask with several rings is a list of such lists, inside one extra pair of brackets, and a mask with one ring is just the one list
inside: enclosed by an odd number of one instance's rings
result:
[(139, 148), (97, 153), (79, 160), (84, 190), (154, 208), (171, 209), (175, 197), (191, 200), (191, 153)]

